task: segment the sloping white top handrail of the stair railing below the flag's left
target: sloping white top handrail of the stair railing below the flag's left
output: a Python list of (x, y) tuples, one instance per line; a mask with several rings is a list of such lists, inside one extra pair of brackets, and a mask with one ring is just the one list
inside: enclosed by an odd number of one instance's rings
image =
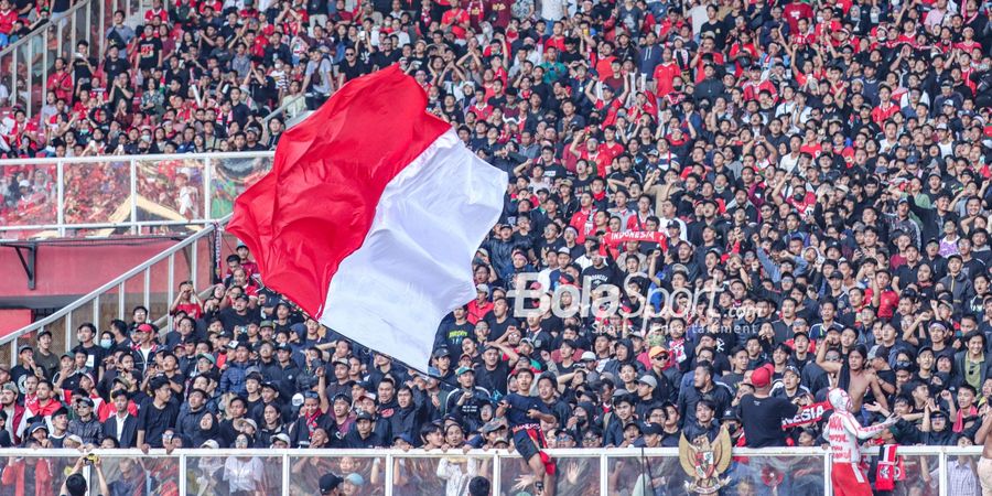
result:
[[(166, 258), (170, 258), (170, 257), (174, 256), (174, 255), (177, 254), (180, 250), (183, 250), (184, 248), (186, 248), (186, 247), (188, 247), (188, 246), (194, 246), (194, 247), (195, 247), (195, 246), (196, 246), (196, 245), (195, 245), (196, 241), (203, 239), (203, 238), (206, 237), (206, 236), (211, 236), (211, 235), (215, 234), (215, 231), (216, 231), (217, 229), (219, 229), (220, 226), (227, 224), (227, 220), (228, 220), (229, 218), (230, 218), (230, 215), (224, 217), (223, 219), (219, 219), (219, 220), (216, 222), (216, 223), (213, 223), (213, 224), (207, 225), (207, 227), (206, 227), (205, 229), (201, 230), (200, 233), (196, 233), (196, 234), (194, 234), (194, 235), (192, 235), (192, 236), (188, 236), (187, 238), (183, 239), (182, 241), (180, 241), (180, 242), (177, 242), (177, 244), (175, 244), (175, 245), (173, 245), (173, 246), (166, 248), (165, 250), (159, 252), (159, 254), (155, 255), (154, 257), (151, 257), (151, 258), (149, 258), (148, 260), (145, 260), (145, 261), (139, 263), (138, 266), (136, 266), (136, 267), (132, 268), (131, 270), (128, 270), (127, 272), (125, 272), (125, 273), (122, 273), (122, 274), (120, 274), (120, 276), (114, 278), (111, 281), (109, 281), (109, 282), (107, 282), (107, 283), (100, 285), (99, 288), (97, 288), (97, 289), (95, 289), (95, 290), (93, 290), (93, 291), (90, 291), (89, 293), (87, 293), (86, 295), (84, 295), (84, 296), (77, 299), (77, 300), (74, 301), (73, 303), (69, 303), (68, 305), (66, 305), (66, 306), (63, 308), (62, 310), (60, 310), (60, 311), (57, 311), (57, 312), (55, 312), (55, 313), (53, 313), (53, 314), (51, 314), (51, 315), (48, 315), (48, 316), (46, 316), (46, 317), (40, 320), (40, 321), (33, 322), (33, 323), (31, 323), (31, 324), (29, 324), (29, 325), (26, 325), (26, 326), (24, 326), (24, 327), (21, 327), (20, 330), (17, 330), (17, 331), (14, 331), (14, 332), (12, 332), (12, 333), (10, 333), (10, 334), (3, 336), (2, 338), (0, 338), (0, 346), (8, 345), (8, 344), (11, 345), (11, 354), (10, 354), (11, 365), (14, 365), (14, 362), (17, 360), (17, 353), (15, 353), (15, 349), (14, 349), (14, 348), (17, 347), (18, 338), (24, 336), (25, 334), (30, 334), (30, 333), (33, 333), (33, 332), (35, 332), (35, 331), (41, 331), (41, 330), (43, 330), (45, 326), (52, 325), (53, 323), (58, 322), (60, 320), (65, 319), (65, 317), (72, 315), (73, 312), (75, 312), (75, 311), (77, 311), (77, 310), (79, 310), (79, 309), (84, 309), (86, 305), (91, 305), (91, 304), (93, 304), (93, 301), (94, 301), (95, 299), (99, 299), (101, 295), (104, 295), (104, 294), (106, 294), (106, 293), (109, 293), (109, 292), (114, 291), (114, 289), (120, 288), (121, 284), (126, 283), (129, 279), (131, 279), (131, 278), (133, 278), (133, 277), (136, 277), (136, 276), (138, 276), (138, 274), (140, 274), (140, 273), (142, 273), (142, 272), (144, 272), (144, 271), (147, 271), (147, 270), (148, 270), (150, 267), (152, 267), (153, 265), (155, 265), (155, 263), (158, 263), (158, 262), (160, 262), (160, 261), (162, 261), (162, 260), (165, 260)], [(194, 257), (195, 257), (195, 256), (194, 256)], [(145, 283), (145, 292), (147, 292), (147, 291), (148, 291), (148, 283)], [(171, 288), (170, 288), (170, 291), (171, 291)], [(97, 325), (99, 325), (99, 323), (97, 323)], [(74, 331), (74, 330), (71, 330), (71, 328), (66, 328), (66, 330), (65, 330), (65, 333), (66, 333), (66, 337), (65, 337), (65, 339), (66, 339), (66, 349), (69, 348), (68, 343), (71, 342), (71, 334), (73, 333), (73, 331)]]

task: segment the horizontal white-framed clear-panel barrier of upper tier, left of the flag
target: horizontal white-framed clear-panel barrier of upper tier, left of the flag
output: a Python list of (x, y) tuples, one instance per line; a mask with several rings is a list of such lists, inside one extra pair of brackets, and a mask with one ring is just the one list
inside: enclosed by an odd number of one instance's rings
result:
[(269, 151), (3, 160), (0, 192), (19, 177), (31, 186), (23, 202), (6, 198), (15, 206), (0, 214), (0, 240), (195, 231), (229, 215), (234, 200), (271, 169), (272, 157)]

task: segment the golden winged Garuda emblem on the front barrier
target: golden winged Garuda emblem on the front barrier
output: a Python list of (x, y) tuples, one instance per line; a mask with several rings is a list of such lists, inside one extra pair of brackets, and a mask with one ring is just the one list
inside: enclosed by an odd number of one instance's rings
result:
[(705, 435), (690, 441), (682, 433), (679, 440), (679, 463), (686, 474), (692, 477), (692, 482), (686, 482), (686, 490), (690, 494), (716, 494), (730, 483), (730, 477), (720, 478), (731, 464), (731, 440), (726, 428), (721, 428), (712, 442)]

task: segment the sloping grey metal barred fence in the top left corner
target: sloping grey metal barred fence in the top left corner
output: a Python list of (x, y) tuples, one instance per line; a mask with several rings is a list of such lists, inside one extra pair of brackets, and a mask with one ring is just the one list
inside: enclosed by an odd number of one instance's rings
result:
[(83, 0), (6, 46), (0, 51), (0, 83), (10, 91), (11, 105), (23, 108), (29, 119), (34, 117), (45, 104), (45, 88), (54, 73), (55, 58), (65, 57), (72, 64), (76, 44), (85, 41), (89, 43), (89, 56), (103, 61), (114, 12), (122, 10), (126, 23), (134, 26), (142, 3), (142, 0)]

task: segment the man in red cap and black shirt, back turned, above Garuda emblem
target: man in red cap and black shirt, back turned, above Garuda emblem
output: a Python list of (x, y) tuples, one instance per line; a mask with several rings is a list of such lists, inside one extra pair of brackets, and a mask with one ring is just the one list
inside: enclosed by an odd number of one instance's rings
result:
[(738, 402), (747, 448), (785, 446), (781, 421), (799, 410), (789, 400), (770, 396), (773, 373), (769, 364), (755, 369), (751, 374), (754, 392), (744, 395)]

